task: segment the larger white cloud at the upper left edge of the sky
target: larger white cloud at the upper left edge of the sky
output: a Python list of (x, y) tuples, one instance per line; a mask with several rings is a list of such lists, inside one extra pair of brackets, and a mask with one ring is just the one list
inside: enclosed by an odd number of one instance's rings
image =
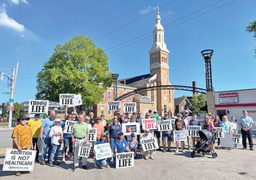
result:
[(16, 31), (23, 32), (25, 27), (23, 24), (16, 22), (14, 19), (9, 17), (6, 13), (5, 6), (0, 7), (0, 25), (12, 28)]

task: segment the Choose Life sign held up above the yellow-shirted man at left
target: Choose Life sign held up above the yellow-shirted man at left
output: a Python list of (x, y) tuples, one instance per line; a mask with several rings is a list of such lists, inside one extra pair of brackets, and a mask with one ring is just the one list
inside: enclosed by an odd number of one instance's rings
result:
[(48, 113), (49, 100), (29, 100), (30, 113)]

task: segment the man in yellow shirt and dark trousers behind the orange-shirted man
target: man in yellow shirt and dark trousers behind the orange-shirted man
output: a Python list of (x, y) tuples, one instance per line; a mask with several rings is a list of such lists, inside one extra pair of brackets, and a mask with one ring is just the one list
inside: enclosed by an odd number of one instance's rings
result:
[(40, 127), (41, 127), (41, 123), (42, 123), (42, 121), (39, 121), (39, 116), (40, 116), (40, 114), (37, 113), (34, 116), (35, 120), (29, 120), (28, 121), (28, 125), (31, 127), (31, 130), (32, 130), (33, 146), (36, 147), (36, 156), (35, 156), (35, 161), (36, 162), (39, 162), (39, 160), (38, 160), (39, 148), (38, 148), (38, 146), (36, 146), (36, 143), (37, 143), (37, 140), (38, 140), (38, 136), (40, 134)]

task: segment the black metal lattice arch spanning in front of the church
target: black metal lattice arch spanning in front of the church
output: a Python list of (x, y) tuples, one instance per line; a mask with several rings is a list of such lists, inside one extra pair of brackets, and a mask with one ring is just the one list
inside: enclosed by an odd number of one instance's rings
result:
[(136, 89), (134, 91), (131, 91), (129, 93), (119, 96), (115, 100), (121, 100), (126, 97), (129, 97), (130, 95), (138, 94), (141, 92), (146, 92), (146, 91), (151, 91), (151, 90), (163, 90), (163, 89), (192, 91), (192, 92), (195, 91), (198, 93), (206, 94), (206, 89), (202, 89), (202, 88), (195, 88), (195, 87), (190, 87), (190, 86), (162, 85), (162, 86), (150, 86), (150, 87), (146, 87), (146, 88)]

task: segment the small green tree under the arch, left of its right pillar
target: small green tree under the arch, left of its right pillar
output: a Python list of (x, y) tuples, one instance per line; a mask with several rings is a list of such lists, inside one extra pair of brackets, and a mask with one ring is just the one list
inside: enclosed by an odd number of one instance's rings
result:
[(194, 94), (192, 97), (192, 103), (189, 106), (190, 110), (196, 114), (206, 113), (206, 111), (200, 111), (200, 108), (205, 106), (206, 94)]

